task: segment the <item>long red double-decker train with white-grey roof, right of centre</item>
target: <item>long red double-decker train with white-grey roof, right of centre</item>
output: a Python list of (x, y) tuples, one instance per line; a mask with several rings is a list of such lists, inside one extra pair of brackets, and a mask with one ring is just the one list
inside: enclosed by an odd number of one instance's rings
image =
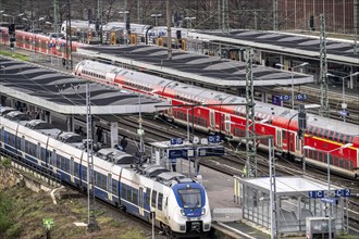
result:
[[(246, 135), (245, 106), (224, 105), (245, 103), (244, 98), (94, 61), (79, 62), (74, 74), (100, 84), (165, 98), (172, 105), (218, 104), (218, 106), (195, 106), (194, 112), (191, 108), (173, 106), (164, 114), (174, 122), (187, 124), (187, 113), (189, 113), (189, 122), (193, 122), (197, 129), (218, 131), (237, 140), (242, 140)], [(313, 114), (307, 114), (307, 118), (305, 144), (315, 150), (305, 150), (306, 162), (327, 168), (327, 152), (332, 151), (329, 154), (331, 171), (358, 177), (359, 126)], [(256, 134), (273, 136), (276, 152), (293, 158), (302, 156), (297, 111), (256, 102), (256, 120), (265, 122), (256, 124)], [(352, 146), (341, 148), (347, 143)], [(261, 139), (260, 146), (268, 146), (268, 139)]]

